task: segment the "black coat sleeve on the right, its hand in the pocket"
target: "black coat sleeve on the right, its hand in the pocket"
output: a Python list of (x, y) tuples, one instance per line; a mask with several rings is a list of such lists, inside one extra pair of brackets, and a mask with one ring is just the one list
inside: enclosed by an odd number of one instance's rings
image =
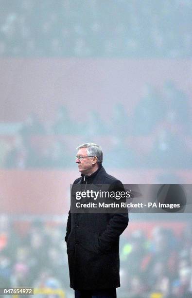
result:
[[(124, 191), (124, 186), (119, 181), (118, 183), (112, 185), (110, 190), (113, 191)], [(126, 199), (122, 199), (126, 202)], [(99, 250), (110, 250), (113, 243), (119, 239), (124, 229), (129, 223), (128, 210), (127, 208), (123, 210), (125, 213), (114, 213), (110, 214), (109, 223), (106, 226), (105, 231), (98, 239), (98, 249)]]

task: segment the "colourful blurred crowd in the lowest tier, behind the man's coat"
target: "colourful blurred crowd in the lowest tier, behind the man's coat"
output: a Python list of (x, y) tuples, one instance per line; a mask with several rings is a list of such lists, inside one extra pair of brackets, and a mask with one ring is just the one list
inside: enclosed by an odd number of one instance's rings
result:
[[(192, 225), (182, 223), (178, 235), (170, 224), (156, 224), (121, 236), (118, 297), (192, 297)], [(65, 231), (62, 221), (19, 222), (1, 215), (0, 287), (62, 289), (70, 298)]]

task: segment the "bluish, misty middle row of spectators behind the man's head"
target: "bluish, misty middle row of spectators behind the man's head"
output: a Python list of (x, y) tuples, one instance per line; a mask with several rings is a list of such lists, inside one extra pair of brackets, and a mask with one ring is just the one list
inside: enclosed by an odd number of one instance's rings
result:
[(117, 103), (108, 119), (94, 109), (77, 125), (65, 105), (50, 122), (30, 114), (11, 139), (1, 135), (0, 167), (70, 168), (85, 139), (106, 148), (107, 168), (192, 168), (189, 96), (166, 81), (160, 91), (145, 85), (131, 112)]

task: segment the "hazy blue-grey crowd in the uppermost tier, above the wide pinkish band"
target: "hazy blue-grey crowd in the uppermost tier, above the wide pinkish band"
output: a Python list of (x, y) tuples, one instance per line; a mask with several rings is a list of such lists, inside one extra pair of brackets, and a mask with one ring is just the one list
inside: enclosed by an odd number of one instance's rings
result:
[(191, 0), (0, 0), (0, 7), (0, 56), (191, 56)]

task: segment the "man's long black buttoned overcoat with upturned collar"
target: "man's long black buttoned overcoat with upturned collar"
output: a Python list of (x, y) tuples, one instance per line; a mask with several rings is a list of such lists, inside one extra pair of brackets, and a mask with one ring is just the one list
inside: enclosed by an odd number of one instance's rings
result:
[[(83, 179), (92, 179), (92, 184), (122, 185), (102, 166), (91, 176), (82, 175), (76, 179), (73, 186), (82, 183)], [(71, 288), (92, 290), (120, 287), (119, 237), (127, 224), (128, 213), (69, 212), (65, 241)]]

